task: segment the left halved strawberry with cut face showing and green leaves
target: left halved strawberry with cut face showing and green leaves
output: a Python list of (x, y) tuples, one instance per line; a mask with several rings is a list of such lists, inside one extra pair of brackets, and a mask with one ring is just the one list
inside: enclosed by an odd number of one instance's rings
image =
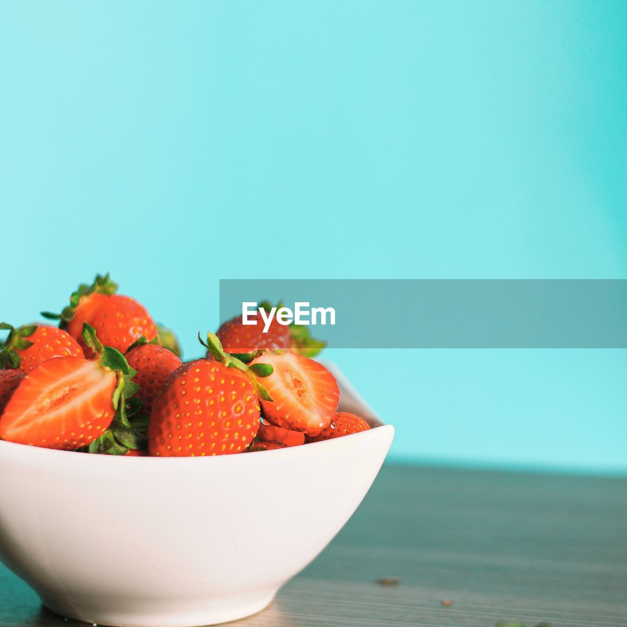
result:
[(88, 325), (84, 338), (98, 359), (56, 357), (34, 367), (4, 409), (0, 439), (119, 454), (140, 448), (126, 409), (126, 397), (137, 387), (130, 381), (135, 371), (119, 351), (103, 347)]

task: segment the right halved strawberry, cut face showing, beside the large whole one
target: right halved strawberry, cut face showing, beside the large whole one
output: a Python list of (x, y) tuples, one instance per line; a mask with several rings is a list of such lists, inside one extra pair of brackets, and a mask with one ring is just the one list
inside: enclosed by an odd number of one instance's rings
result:
[(286, 350), (256, 357), (272, 367), (264, 385), (273, 401), (261, 399), (263, 415), (275, 426), (307, 435), (327, 428), (337, 410), (340, 390), (335, 377), (319, 362)]

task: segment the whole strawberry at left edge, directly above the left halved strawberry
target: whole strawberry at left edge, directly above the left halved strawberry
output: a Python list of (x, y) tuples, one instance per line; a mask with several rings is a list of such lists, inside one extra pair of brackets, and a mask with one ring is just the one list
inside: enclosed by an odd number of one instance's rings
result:
[(78, 342), (57, 327), (31, 324), (15, 329), (3, 322), (0, 329), (10, 329), (0, 349), (0, 367), (10, 366), (30, 372), (53, 357), (83, 357)]

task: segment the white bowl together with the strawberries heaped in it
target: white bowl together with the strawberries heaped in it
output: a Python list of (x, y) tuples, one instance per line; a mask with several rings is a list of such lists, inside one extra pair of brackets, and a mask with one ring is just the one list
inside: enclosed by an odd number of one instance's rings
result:
[(0, 560), (60, 616), (195, 627), (260, 611), (393, 440), (352, 413), (367, 408), (307, 329), (236, 318), (182, 362), (108, 276), (45, 315), (58, 326), (2, 325)]

